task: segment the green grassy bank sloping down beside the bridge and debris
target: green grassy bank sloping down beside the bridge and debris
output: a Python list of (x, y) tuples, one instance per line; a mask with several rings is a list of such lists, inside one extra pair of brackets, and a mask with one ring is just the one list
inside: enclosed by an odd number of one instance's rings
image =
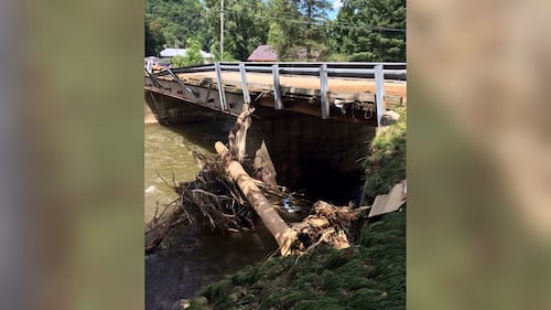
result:
[[(381, 128), (366, 161), (365, 197), (406, 177), (406, 111)], [(344, 250), (320, 246), (300, 257), (248, 266), (204, 289), (190, 309), (404, 309), (406, 212), (365, 223)]]

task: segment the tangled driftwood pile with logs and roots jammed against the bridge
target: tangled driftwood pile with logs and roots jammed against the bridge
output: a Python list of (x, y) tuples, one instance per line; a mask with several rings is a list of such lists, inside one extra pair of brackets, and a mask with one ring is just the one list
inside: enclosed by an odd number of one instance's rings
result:
[(274, 210), (273, 199), (280, 202), (301, 199), (273, 184), (274, 178), (273, 182), (264, 182), (246, 172), (239, 161), (244, 157), (252, 111), (246, 106), (239, 115), (228, 136), (229, 149), (222, 142), (215, 143), (216, 159), (194, 153), (204, 162), (196, 180), (180, 184), (173, 181), (172, 185), (165, 182), (179, 193), (179, 199), (165, 206), (160, 215), (155, 214), (150, 223), (145, 233), (147, 254), (153, 253), (179, 224), (199, 225), (222, 233), (239, 232), (252, 228), (256, 216), (276, 238), (283, 256), (307, 253), (322, 243), (337, 249), (349, 247), (350, 224), (365, 209), (336, 207), (318, 201), (311, 215), (290, 226)]

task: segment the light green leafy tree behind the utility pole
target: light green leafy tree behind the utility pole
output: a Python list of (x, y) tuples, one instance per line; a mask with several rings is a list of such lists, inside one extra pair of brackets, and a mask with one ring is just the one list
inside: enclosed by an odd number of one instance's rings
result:
[[(212, 53), (219, 55), (220, 1), (205, 0), (208, 8), (206, 21), (213, 38)], [(224, 1), (224, 60), (245, 61), (255, 49), (268, 40), (269, 23), (263, 18), (266, 4), (261, 0)]]

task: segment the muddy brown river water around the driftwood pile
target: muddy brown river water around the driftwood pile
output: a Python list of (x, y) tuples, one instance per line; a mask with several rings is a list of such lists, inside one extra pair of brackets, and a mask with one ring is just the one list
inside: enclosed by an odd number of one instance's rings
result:
[[(226, 141), (234, 119), (181, 126), (147, 125), (144, 132), (144, 218), (176, 194), (159, 178), (172, 182), (195, 179), (199, 171), (192, 151), (214, 154), (214, 142)], [(255, 232), (220, 236), (177, 228), (169, 246), (145, 257), (145, 309), (170, 309), (224, 275), (261, 261), (278, 245), (261, 221)]]

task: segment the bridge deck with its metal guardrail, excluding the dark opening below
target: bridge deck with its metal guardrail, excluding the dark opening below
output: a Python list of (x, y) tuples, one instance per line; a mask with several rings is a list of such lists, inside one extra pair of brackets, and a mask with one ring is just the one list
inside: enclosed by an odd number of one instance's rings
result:
[(244, 104), (380, 126), (406, 98), (404, 63), (215, 63), (145, 71), (144, 88), (223, 114)]

